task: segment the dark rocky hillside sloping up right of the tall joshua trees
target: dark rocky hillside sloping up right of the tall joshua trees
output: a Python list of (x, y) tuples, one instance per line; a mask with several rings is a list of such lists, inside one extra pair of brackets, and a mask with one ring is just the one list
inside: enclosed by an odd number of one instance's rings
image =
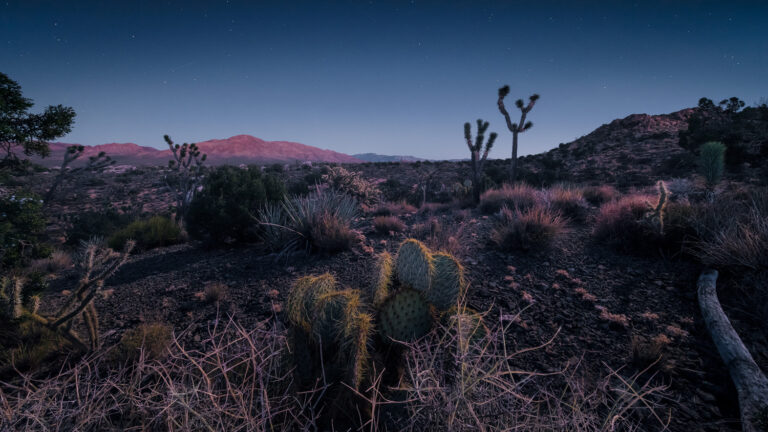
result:
[(693, 156), (678, 145), (693, 108), (670, 114), (632, 114), (604, 124), (570, 143), (521, 159), (521, 174), (532, 183), (616, 182), (644, 185), (687, 176)]

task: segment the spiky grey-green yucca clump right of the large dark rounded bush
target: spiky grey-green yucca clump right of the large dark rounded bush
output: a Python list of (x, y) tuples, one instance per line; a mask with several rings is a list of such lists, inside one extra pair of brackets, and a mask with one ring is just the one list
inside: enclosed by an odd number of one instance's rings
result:
[(353, 224), (359, 215), (354, 197), (318, 190), (306, 197), (285, 198), (264, 206), (258, 215), (261, 238), (273, 252), (291, 250), (338, 252), (357, 238)]

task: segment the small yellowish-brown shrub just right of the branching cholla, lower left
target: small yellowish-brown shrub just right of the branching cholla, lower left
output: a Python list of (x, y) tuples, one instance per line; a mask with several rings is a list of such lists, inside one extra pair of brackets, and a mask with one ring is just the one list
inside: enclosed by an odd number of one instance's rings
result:
[(143, 353), (145, 359), (161, 360), (168, 355), (173, 329), (162, 323), (141, 324), (126, 331), (112, 351), (121, 363), (136, 361)]

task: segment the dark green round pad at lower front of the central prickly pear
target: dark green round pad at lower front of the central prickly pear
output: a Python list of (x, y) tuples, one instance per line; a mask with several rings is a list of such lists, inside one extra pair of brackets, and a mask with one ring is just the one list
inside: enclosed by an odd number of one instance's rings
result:
[(429, 303), (419, 291), (403, 288), (381, 306), (379, 326), (385, 340), (407, 342), (424, 336), (432, 328)]

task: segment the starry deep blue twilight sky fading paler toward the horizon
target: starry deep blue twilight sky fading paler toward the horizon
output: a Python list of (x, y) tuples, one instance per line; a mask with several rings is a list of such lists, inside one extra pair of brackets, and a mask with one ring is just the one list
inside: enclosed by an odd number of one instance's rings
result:
[(510, 110), (541, 95), (521, 155), (703, 96), (764, 101), (766, 23), (766, 1), (0, 0), (0, 72), (33, 111), (75, 109), (61, 142), (249, 134), (450, 159), (482, 118), (504, 158), (505, 84)]

